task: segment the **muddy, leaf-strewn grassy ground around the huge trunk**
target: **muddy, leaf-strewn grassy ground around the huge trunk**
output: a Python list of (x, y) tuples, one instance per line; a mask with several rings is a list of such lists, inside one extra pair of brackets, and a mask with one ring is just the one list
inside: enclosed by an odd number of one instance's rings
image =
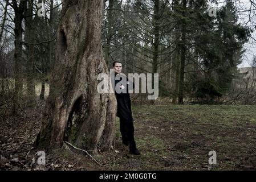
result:
[[(17, 116), (0, 118), (1, 170), (255, 170), (256, 112), (246, 105), (133, 106), (140, 156), (121, 143), (119, 119), (113, 149), (94, 155), (64, 145), (37, 163), (32, 146), (43, 102)], [(208, 155), (216, 151), (217, 164)]]

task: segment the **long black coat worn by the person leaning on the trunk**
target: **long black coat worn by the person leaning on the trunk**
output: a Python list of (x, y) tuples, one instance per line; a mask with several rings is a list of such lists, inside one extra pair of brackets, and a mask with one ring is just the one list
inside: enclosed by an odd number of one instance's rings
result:
[[(121, 81), (121, 78), (120, 80), (115, 80), (115, 86), (119, 81)], [(116, 93), (116, 90), (115, 90), (116, 101), (117, 101), (117, 117), (123, 118), (128, 121), (133, 121), (131, 98), (130, 98), (130, 94), (128, 93), (128, 84), (131, 84), (131, 81), (129, 81), (127, 78), (127, 82), (125, 83), (126, 84), (124, 85), (124, 89), (127, 90), (126, 93)], [(135, 85), (134, 83), (132, 83), (132, 89), (134, 89), (134, 87)]]

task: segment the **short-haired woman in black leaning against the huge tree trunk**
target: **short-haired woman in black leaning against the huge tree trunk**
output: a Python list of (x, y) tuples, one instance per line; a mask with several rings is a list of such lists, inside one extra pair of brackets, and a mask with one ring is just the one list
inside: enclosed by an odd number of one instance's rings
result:
[[(119, 61), (113, 62), (113, 68), (115, 69), (115, 77), (122, 71), (122, 64)], [(126, 77), (127, 78), (127, 77)], [(116, 84), (121, 81), (115, 80)], [(126, 93), (117, 93), (115, 89), (116, 101), (117, 101), (117, 117), (120, 118), (120, 132), (122, 135), (123, 144), (129, 146), (129, 153), (134, 155), (140, 155), (140, 151), (136, 148), (134, 139), (134, 127), (131, 109), (131, 99), (128, 93), (129, 80), (125, 81), (125, 85), (121, 85), (120, 89), (127, 89)], [(134, 84), (133, 84), (134, 88)]]

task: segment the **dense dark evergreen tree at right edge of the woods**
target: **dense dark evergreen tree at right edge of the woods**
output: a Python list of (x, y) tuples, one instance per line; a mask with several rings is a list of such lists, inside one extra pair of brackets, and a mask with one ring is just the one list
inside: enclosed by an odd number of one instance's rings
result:
[(196, 52), (200, 56), (204, 72), (193, 82), (195, 96), (211, 102), (227, 92), (237, 73), (250, 31), (238, 23), (238, 15), (232, 1), (217, 12), (216, 19), (196, 38)]

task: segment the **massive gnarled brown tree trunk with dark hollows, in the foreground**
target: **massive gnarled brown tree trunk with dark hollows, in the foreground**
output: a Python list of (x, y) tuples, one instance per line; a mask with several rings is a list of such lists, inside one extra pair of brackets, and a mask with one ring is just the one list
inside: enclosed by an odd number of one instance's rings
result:
[(64, 140), (97, 151), (115, 137), (115, 94), (97, 92), (97, 75), (108, 73), (101, 49), (101, 0), (64, 0), (56, 39), (50, 94), (43, 111), (39, 148)]

